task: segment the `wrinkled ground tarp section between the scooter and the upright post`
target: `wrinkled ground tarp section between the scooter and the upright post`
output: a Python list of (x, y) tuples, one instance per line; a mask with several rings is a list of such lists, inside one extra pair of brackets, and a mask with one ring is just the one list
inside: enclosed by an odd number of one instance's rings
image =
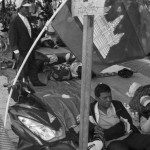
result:
[(46, 87), (34, 89), (47, 110), (51, 107), (66, 129), (76, 124), (80, 111), (80, 84), (74, 81), (49, 81)]

